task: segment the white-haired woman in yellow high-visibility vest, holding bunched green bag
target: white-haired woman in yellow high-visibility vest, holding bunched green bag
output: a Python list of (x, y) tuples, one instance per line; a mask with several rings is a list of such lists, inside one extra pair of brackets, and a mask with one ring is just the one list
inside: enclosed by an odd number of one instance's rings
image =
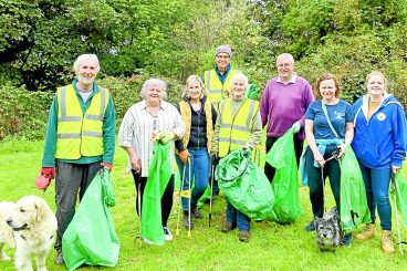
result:
[[(229, 98), (220, 102), (215, 124), (211, 157), (222, 158), (241, 148), (253, 149), (261, 138), (259, 102), (248, 98), (248, 77), (236, 74), (231, 80)], [(250, 218), (236, 209), (227, 199), (227, 219), (222, 232), (239, 228), (239, 240), (249, 241)]]

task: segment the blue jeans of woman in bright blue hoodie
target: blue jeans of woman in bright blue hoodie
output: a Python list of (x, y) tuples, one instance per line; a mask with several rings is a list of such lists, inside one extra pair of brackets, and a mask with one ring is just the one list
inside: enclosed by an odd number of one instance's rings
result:
[(380, 218), (383, 230), (392, 230), (392, 207), (388, 199), (388, 186), (390, 184), (392, 168), (368, 168), (361, 165), (365, 181), (367, 206), (371, 211), (372, 222), (376, 221), (376, 207)]

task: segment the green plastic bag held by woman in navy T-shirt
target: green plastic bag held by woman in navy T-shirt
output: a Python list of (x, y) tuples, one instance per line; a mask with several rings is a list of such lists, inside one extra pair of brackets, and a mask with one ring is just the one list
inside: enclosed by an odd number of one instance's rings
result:
[(371, 211), (367, 207), (365, 183), (357, 158), (349, 145), (340, 159), (341, 165), (341, 226), (345, 232), (351, 232), (361, 223), (371, 222)]

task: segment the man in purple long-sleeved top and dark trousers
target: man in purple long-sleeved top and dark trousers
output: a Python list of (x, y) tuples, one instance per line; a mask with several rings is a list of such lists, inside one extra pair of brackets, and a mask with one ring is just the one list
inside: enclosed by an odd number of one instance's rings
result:
[[(310, 83), (294, 72), (294, 59), (289, 53), (276, 58), (279, 76), (271, 79), (264, 88), (260, 103), (260, 115), (263, 127), (269, 123), (265, 150), (269, 152), (275, 140), (293, 127), (296, 165), (299, 165), (305, 138), (305, 111), (315, 98)], [(270, 183), (275, 168), (265, 163), (264, 173)]]

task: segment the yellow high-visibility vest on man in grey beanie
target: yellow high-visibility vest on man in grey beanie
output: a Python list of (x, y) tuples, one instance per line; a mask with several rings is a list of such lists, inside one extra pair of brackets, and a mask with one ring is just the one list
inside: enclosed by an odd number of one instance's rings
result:
[(237, 73), (239, 73), (239, 71), (230, 69), (228, 76), (226, 77), (225, 83), (222, 84), (215, 69), (205, 72), (204, 83), (209, 91), (208, 101), (213, 105), (213, 107), (217, 111), (219, 102), (225, 98), (228, 98), (230, 91), (230, 81)]

